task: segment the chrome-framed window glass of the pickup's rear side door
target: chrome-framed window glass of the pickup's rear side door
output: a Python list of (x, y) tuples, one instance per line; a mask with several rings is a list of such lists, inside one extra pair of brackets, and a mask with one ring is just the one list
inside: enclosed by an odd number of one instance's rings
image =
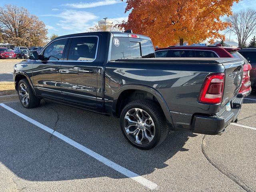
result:
[(68, 60), (93, 61), (96, 58), (98, 37), (77, 37), (72, 38)]

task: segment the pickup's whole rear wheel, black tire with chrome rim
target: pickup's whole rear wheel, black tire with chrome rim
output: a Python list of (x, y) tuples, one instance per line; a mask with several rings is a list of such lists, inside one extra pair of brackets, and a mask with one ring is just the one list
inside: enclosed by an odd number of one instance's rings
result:
[(126, 140), (142, 150), (158, 146), (168, 134), (161, 108), (150, 100), (127, 104), (120, 115), (120, 126)]

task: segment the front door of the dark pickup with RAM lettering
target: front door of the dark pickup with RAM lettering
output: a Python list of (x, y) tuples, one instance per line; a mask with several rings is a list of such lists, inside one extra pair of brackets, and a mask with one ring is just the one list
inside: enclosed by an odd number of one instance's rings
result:
[(52, 42), (44, 49), (42, 60), (34, 62), (33, 80), (38, 95), (58, 100), (63, 99), (60, 68), (67, 43), (68, 38)]

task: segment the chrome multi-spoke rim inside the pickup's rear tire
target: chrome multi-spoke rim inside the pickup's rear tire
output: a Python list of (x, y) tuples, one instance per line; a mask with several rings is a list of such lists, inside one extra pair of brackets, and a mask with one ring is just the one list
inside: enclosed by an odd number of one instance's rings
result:
[(130, 109), (124, 117), (124, 129), (136, 144), (150, 143), (155, 136), (155, 125), (150, 115), (139, 108)]

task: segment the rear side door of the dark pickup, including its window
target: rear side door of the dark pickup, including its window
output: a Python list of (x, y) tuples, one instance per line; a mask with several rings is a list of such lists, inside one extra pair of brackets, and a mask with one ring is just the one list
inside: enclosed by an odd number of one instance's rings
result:
[(97, 68), (96, 52), (98, 36), (70, 37), (67, 60), (61, 66), (62, 94), (66, 102), (97, 107)]

